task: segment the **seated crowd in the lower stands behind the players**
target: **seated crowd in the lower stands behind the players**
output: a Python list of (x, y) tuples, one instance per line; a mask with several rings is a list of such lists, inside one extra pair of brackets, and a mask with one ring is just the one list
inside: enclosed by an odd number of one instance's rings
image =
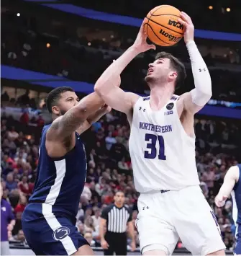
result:
[[(24, 114), (24, 113), (23, 113)], [(21, 118), (20, 118), (21, 119)], [(11, 115), (1, 116), (1, 186), (3, 198), (9, 200), (16, 224), (9, 229), (9, 241), (24, 242), (21, 216), (29, 195), (32, 194), (38, 161), (38, 145), (41, 126), (23, 133), (27, 123), (14, 120)], [(237, 146), (240, 144), (240, 124), (220, 120), (195, 120), (196, 165), (204, 191), (218, 219), (227, 248), (232, 249), (234, 223), (232, 203), (224, 208), (214, 205), (229, 167), (237, 164)], [(31, 133), (32, 131), (32, 133)], [(34, 133), (34, 134), (33, 134)], [(124, 191), (126, 205), (132, 209), (132, 219), (137, 218), (138, 193), (132, 180), (132, 164), (128, 151), (129, 125), (120, 112), (106, 114), (83, 134), (88, 158), (86, 185), (80, 198), (76, 216), (78, 231), (91, 245), (99, 246), (99, 218), (101, 210), (113, 202), (116, 190)], [(235, 157), (236, 156), (236, 157)], [(138, 235), (136, 240), (138, 245)], [(181, 241), (178, 248), (182, 247)]]

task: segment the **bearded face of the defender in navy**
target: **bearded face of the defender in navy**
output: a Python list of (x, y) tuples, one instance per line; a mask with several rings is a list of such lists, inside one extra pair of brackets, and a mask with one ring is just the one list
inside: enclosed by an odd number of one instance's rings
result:
[(60, 100), (58, 100), (58, 106), (53, 108), (55, 108), (55, 111), (57, 110), (59, 112), (57, 113), (58, 115), (64, 115), (65, 112), (76, 106), (78, 102), (79, 98), (75, 92), (63, 92)]

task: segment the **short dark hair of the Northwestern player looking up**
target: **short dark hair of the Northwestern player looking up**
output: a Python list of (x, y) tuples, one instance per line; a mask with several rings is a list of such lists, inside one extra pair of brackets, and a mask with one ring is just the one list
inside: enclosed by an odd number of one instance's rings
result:
[(181, 63), (178, 58), (172, 56), (170, 53), (165, 53), (164, 51), (158, 53), (155, 56), (155, 60), (157, 60), (158, 58), (168, 58), (170, 60), (171, 69), (174, 69), (178, 73), (175, 86), (176, 88), (181, 87), (184, 80), (186, 79), (186, 69), (184, 64)]

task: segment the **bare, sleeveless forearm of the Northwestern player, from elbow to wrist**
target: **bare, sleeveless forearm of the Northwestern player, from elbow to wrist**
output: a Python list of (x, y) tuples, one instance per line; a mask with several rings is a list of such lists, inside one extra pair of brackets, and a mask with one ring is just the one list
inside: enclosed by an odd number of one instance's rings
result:
[(101, 74), (100, 78), (96, 81), (95, 91), (99, 94), (109, 92), (109, 89), (117, 86), (119, 76), (126, 66), (135, 58), (140, 52), (135, 47), (128, 48), (122, 56), (114, 61), (107, 69)]

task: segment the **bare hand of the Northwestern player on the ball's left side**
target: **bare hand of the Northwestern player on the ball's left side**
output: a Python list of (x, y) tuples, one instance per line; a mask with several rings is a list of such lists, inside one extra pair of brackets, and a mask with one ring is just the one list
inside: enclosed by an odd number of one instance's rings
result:
[(142, 22), (142, 26), (140, 27), (135, 43), (132, 46), (138, 51), (138, 53), (144, 53), (150, 49), (155, 50), (155, 45), (147, 44), (147, 32), (145, 30), (144, 22)]

